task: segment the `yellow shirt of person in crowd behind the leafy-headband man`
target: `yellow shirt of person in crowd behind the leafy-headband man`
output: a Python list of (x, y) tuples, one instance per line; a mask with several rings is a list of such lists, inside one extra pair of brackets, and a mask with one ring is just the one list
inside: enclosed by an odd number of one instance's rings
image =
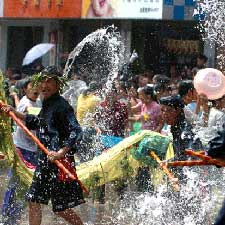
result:
[(81, 126), (94, 126), (93, 113), (99, 103), (99, 98), (93, 94), (81, 94), (77, 100), (77, 120)]

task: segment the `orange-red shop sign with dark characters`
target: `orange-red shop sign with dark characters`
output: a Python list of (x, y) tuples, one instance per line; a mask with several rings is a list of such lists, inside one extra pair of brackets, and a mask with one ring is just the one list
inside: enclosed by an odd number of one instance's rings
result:
[[(0, 2), (3, 0), (0, 0)], [(4, 17), (80, 18), (82, 0), (4, 0)]]

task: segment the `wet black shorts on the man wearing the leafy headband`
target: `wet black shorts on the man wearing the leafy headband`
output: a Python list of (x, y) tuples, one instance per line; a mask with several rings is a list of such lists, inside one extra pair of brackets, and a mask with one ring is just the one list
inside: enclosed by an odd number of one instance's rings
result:
[(26, 199), (46, 205), (51, 200), (53, 212), (64, 211), (84, 203), (78, 182), (62, 182), (58, 179), (57, 173), (58, 169), (54, 164), (49, 163), (43, 168), (38, 166)]

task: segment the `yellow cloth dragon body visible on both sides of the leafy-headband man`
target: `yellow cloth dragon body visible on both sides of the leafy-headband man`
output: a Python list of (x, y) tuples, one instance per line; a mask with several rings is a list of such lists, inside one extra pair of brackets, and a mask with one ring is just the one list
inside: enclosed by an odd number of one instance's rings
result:
[[(3, 76), (0, 73), (0, 99), (6, 102), (5, 93), (2, 85)], [(93, 99), (93, 98), (90, 98)], [(76, 167), (77, 175), (81, 182), (91, 188), (93, 177), (98, 178), (97, 185), (102, 185), (119, 178), (128, 178), (135, 176), (140, 162), (131, 155), (131, 149), (136, 149), (138, 143), (146, 136), (160, 135), (159, 133), (143, 130), (135, 135), (125, 138), (119, 144), (108, 151), (103, 152), (93, 160), (80, 164)], [(16, 174), (25, 185), (30, 185), (33, 176), (33, 170), (26, 167), (19, 156), (16, 154), (11, 135), (10, 119), (5, 114), (0, 113), (0, 151), (2, 151)], [(174, 157), (172, 143), (169, 144), (164, 159)], [(163, 182), (163, 173), (159, 169), (153, 169), (153, 184), (159, 185)]]

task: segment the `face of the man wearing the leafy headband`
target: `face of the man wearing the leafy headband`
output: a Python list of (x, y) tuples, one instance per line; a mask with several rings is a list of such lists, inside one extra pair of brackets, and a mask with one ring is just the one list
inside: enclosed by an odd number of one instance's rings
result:
[(54, 78), (47, 78), (41, 82), (40, 89), (43, 98), (48, 99), (59, 91), (59, 84)]

